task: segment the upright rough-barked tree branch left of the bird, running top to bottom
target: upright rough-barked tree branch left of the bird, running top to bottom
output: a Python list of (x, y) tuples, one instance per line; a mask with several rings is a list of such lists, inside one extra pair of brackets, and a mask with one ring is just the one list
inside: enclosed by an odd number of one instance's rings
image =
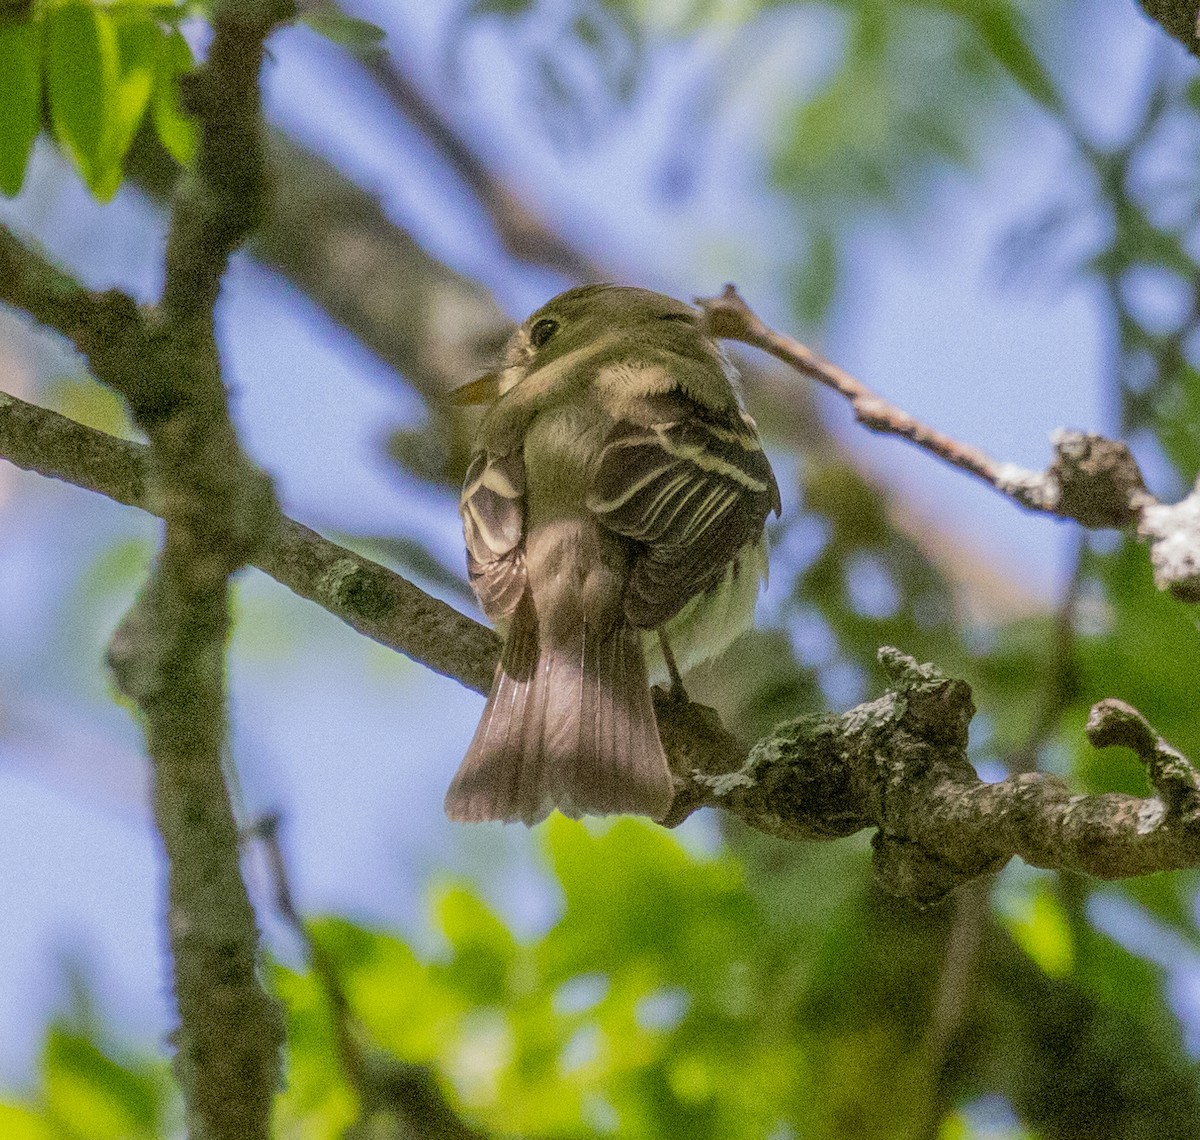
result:
[[(258, 929), (223, 772), (228, 580), (278, 511), (234, 434), (212, 311), (229, 254), (263, 209), (258, 72), (266, 35), (288, 14), (282, 0), (215, 6), (209, 59), (184, 86), (200, 139), (172, 206), (162, 302), (140, 336), (125, 338), (139, 346), (132, 359), (104, 359), (119, 350), (104, 330), (79, 340), (149, 438), (149, 492), (166, 521), (109, 661), (142, 713), (152, 761), (180, 1015), (175, 1068), (193, 1140), (269, 1136), (283, 1039), (257, 976)], [(126, 331), (142, 322), (127, 302), (113, 308)]]

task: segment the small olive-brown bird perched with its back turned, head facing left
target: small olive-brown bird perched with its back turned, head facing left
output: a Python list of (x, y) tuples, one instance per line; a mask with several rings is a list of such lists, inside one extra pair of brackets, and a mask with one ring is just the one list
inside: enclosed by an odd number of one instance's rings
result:
[(460, 511), (470, 583), (505, 635), (451, 820), (661, 820), (673, 784), (647, 654), (683, 668), (754, 619), (779, 487), (701, 313), (570, 289), (457, 390), (491, 403)]

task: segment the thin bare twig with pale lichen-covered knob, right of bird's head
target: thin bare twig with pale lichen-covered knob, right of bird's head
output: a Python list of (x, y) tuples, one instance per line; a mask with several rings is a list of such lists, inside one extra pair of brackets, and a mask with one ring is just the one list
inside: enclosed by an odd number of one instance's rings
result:
[(1060, 428), (1054, 462), (1044, 472), (1000, 463), (888, 403), (848, 372), (760, 319), (733, 286), (697, 299), (714, 336), (770, 353), (850, 401), (871, 431), (900, 436), (965, 470), (1032, 511), (1072, 518), (1091, 529), (1129, 529), (1150, 548), (1154, 584), (1181, 601), (1200, 601), (1200, 482), (1178, 503), (1159, 503), (1147, 490), (1128, 446), (1090, 432)]

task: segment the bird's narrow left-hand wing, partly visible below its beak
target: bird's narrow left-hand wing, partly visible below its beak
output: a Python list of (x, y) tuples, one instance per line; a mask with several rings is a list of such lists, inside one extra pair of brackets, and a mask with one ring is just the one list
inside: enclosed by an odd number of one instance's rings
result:
[(524, 457), (476, 451), (458, 500), (467, 540), (467, 572), (493, 622), (516, 608), (526, 587)]

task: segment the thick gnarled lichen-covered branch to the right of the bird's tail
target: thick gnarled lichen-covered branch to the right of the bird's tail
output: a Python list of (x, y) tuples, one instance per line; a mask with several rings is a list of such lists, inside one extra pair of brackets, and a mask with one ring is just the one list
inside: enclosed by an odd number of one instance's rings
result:
[(1100, 878), (1200, 866), (1200, 780), (1135, 710), (1102, 702), (1093, 721), (1103, 727), (1092, 739), (1138, 746), (1157, 794), (1076, 796), (1042, 773), (984, 784), (966, 756), (970, 686), (895, 649), (881, 649), (880, 660), (892, 680), (882, 697), (779, 725), (749, 752), (697, 746), (708, 730), (697, 730), (696, 707), (660, 701), (683, 805), (668, 822), (713, 805), (785, 839), (872, 827), (876, 875), (919, 904), (1013, 856)]

